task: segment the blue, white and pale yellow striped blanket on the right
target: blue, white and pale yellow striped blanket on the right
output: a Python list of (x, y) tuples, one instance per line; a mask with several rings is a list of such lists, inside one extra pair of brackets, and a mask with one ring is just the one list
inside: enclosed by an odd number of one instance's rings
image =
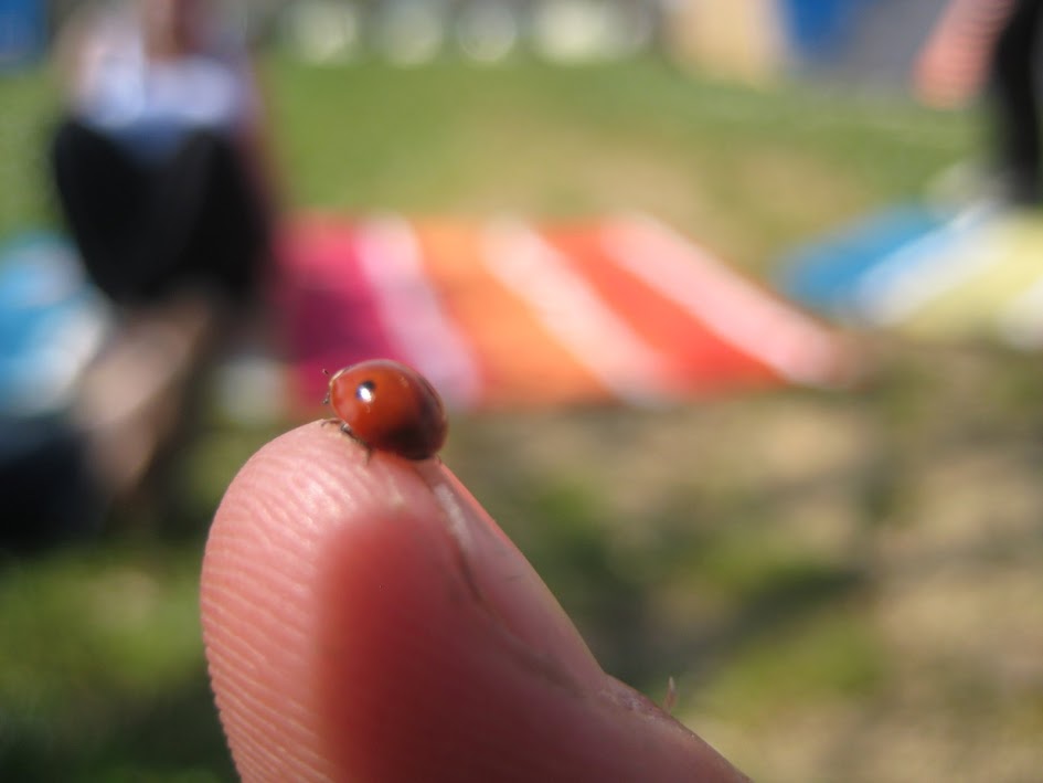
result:
[(1043, 347), (1043, 220), (1032, 213), (894, 207), (781, 266), (789, 297), (851, 327)]

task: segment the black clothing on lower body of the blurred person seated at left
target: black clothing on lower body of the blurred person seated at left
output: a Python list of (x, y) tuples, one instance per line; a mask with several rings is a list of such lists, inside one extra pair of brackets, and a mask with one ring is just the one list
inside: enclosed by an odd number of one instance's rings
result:
[(113, 300), (148, 304), (189, 286), (233, 301), (256, 293), (269, 220), (230, 139), (195, 131), (171, 157), (146, 165), (70, 119), (51, 160), (87, 274)]

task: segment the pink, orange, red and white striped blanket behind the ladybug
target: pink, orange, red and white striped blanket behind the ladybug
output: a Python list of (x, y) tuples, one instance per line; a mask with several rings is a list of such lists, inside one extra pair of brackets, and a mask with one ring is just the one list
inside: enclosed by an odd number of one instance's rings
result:
[(836, 334), (647, 216), (533, 225), (298, 219), (278, 295), (301, 405), (323, 368), (424, 372), (457, 409), (830, 385)]

